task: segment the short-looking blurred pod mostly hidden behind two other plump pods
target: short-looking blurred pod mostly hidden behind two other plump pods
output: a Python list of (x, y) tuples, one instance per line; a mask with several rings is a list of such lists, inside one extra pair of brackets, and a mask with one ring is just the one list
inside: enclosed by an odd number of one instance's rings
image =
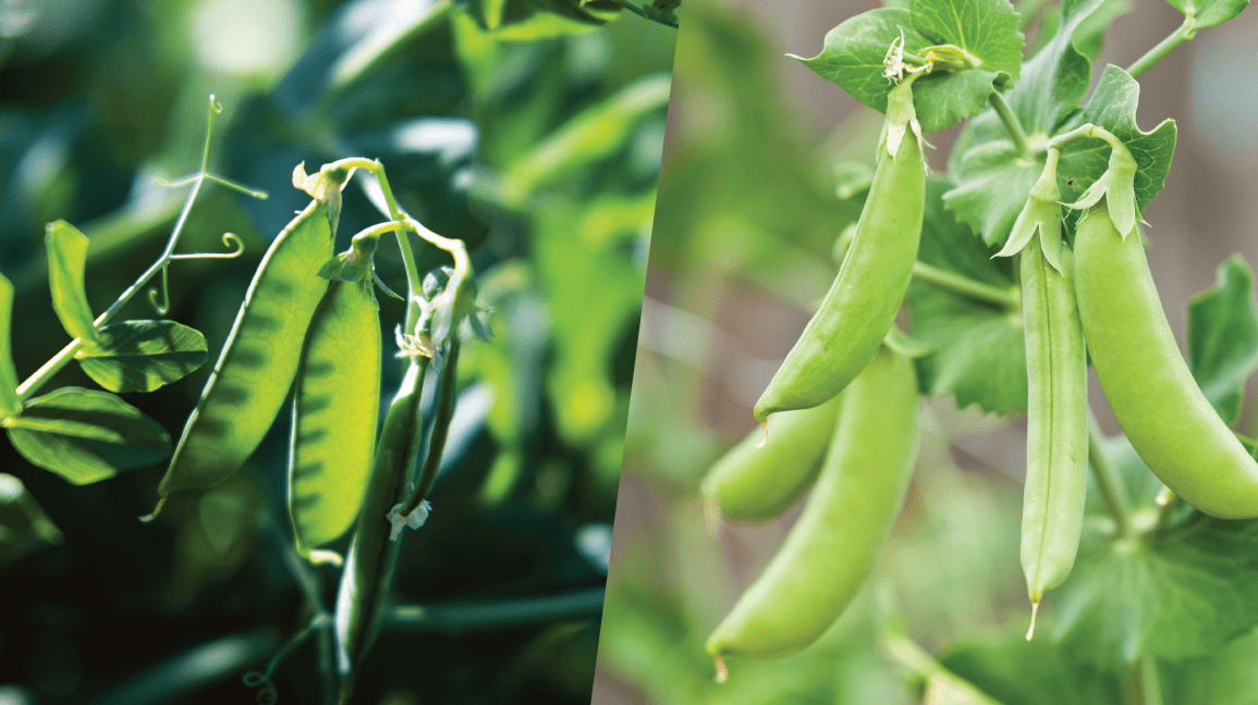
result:
[(769, 420), (769, 440), (754, 430), (703, 478), (704, 499), (735, 522), (767, 522), (803, 496), (821, 469), (842, 395)]

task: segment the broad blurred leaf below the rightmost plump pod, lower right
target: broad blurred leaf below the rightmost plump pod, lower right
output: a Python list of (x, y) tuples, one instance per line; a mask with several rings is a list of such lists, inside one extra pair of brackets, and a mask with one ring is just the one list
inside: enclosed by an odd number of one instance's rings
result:
[(1066, 648), (1097, 666), (1215, 653), (1258, 626), (1258, 522), (1198, 511), (1156, 539), (1086, 533), (1057, 613)]

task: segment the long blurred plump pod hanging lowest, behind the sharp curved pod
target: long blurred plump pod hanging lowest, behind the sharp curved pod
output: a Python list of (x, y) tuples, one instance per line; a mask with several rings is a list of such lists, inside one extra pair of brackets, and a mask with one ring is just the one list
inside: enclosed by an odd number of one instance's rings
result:
[(843, 393), (821, 473), (786, 542), (707, 641), (725, 655), (788, 656), (855, 597), (899, 514), (917, 455), (913, 361), (887, 348)]

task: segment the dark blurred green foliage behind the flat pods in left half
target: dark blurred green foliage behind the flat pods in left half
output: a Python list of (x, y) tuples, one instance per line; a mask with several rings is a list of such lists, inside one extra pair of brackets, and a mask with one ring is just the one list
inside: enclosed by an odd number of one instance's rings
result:
[[(210, 170), (269, 192), (209, 187), (179, 251), (221, 251), (230, 231), (245, 255), (171, 266), (170, 318), (211, 356), (267, 244), (307, 202), (293, 167), (379, 158), (405, 210), (468, 244), (494, 312), (492, 337), (464, 349), (434, 511), (395, 579), (400, 603), (447, 617), (386, 627), (359, 701), (587, 701), (676, 35), (566, 0), (0, 4), (0, 273), (15, 287), (19, 380), (68, 342), (44, 225), (88, 235), (87, 300), (104, 310), (169, 235), (182, 192), (157, 180), (196, 168), (206, 94), (224, 109)], [(338, 250), (384, 217), (365, 181), (345, 192)], [(431, 248), (419, 259), (445, 263)], [(401, 289), (396, 250), (377, 264)], [(403, 307), (380, 302), (391, 341)], [(155, 314), (136, 297), (128, 317)], [(174, 436), (208, 367), (125, 397)], [(400, 366), (385, 368), (386, 402)], [(94, 387), (77, 366), (55, 386)], [(286, 417), (243, 471), (151, 525), (136, 518), (161, 462), (73, 486), (0, 444), (14, 485), (0, 684), (38, 702), (253, 699), (242, 672), (308, 618), (289, 566), (287, 432)], [(330, 599), (336, 571), (312, 574)], [(555, 599), (521, 612), (532, 596)], [(317, 702), (318, 674), (307, 641), (273, 695)]]

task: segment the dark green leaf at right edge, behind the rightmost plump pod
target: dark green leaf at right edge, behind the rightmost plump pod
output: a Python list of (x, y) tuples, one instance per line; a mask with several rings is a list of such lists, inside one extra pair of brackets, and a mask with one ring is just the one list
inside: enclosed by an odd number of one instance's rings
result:
[(1218, 281), (1188, 304), (1193, 377), (1228, 426), (1240, 418), (1245, 380), (1258, 369), (1254, 275), (1240, 255), (1219, 265)]

